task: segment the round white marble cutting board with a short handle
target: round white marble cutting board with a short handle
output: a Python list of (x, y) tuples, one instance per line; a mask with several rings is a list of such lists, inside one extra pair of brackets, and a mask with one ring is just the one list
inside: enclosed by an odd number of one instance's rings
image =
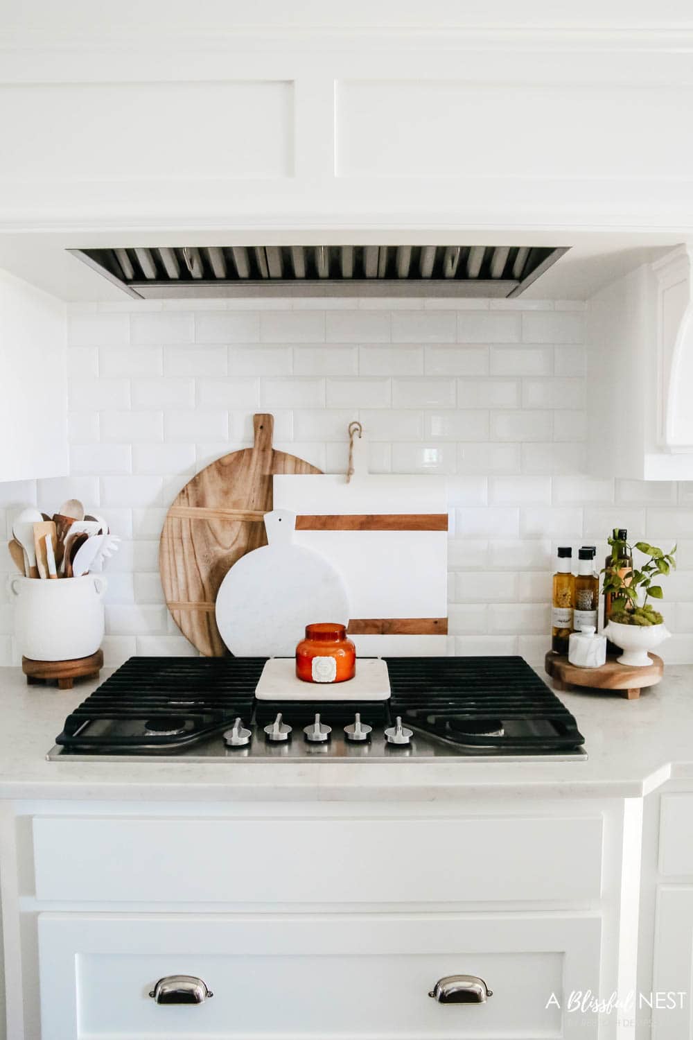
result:
[(292, 543), (296, 514), (265, 516), (268, 545), (231, 568), (216, 597), (216, 623), (237, 657), (292, 657), (305, 626), (349, 622), (347, 592), (328, 560)]

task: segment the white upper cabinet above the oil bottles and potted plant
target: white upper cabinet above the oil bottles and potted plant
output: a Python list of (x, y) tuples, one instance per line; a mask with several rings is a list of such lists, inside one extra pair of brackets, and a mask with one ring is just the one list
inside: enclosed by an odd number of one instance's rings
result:
[(590, 470), (693, 478), (693, 271), (681, 245), (587, 304)]

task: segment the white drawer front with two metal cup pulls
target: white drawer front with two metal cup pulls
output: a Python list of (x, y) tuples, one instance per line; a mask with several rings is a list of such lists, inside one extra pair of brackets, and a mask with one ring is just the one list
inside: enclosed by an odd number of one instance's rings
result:
[[(595, 1015), (556, 1007), (598, 989), (596, 916), (42, 914), (38, 937), (43, 1040), (596, 1036)], [(480, 976), (492, 996), (428, 996), (455, 973)], [(168, 974), (214, 995), (157, 1005), (149, 993)]]

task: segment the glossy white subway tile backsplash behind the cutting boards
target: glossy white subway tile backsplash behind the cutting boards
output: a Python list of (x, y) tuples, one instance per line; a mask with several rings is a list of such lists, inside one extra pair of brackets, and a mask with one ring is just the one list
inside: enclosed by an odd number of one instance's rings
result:
[[(665, 548), (679, 543), (665, 590), (676, 634), (663, 654), (693, 660), (693, 483), (614, 487), (586, 475), (583, 311), (579, 301), (420, 297), (70, 308), (73, 475), (0, 486), (0, 530), (36, 498), (47, 510), (68, 497), (98, 509), (124, 539), (108, 567), (107, 661), (194, 653), (158, 574), (177, 492), (249, 445), (261, 409), (274, 415), (277, 448), (325, 472), (346, 471), (347, 426), (358, 419), (371, 472), (445, 476), (450, 652), (519, 652), (540, 665), (556, 546), (594, 544), (601, 562), (609, 529), (623, 524)], [(0, 588), (3, 661), (17, 659), (7, 602)]]

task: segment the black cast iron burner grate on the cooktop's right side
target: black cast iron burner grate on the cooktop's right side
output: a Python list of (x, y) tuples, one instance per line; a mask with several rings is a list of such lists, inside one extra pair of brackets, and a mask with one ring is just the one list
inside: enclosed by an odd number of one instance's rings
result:
[(535, 752), (584, 743), (522, 657), (388, 657), (392, 714), (455, 744)]

